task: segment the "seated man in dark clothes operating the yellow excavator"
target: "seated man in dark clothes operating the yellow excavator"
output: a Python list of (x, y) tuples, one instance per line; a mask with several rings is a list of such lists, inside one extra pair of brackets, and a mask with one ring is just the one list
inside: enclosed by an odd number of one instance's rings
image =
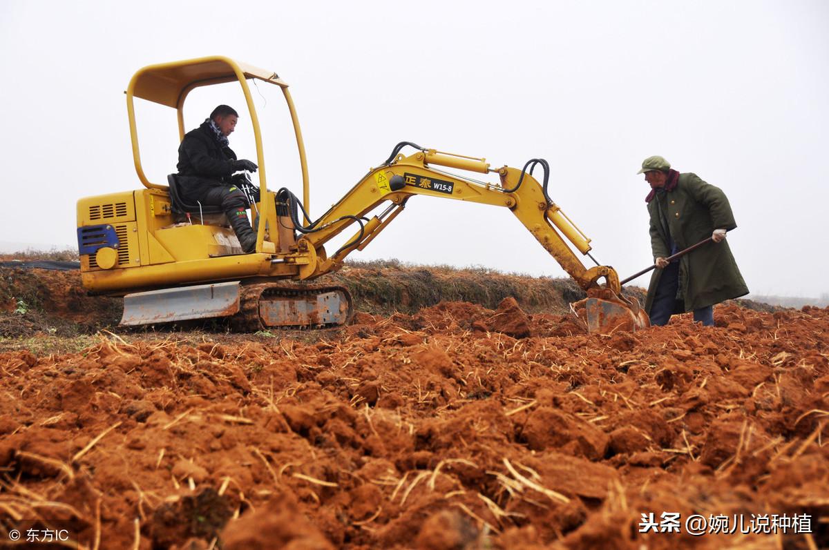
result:
[(227, 105), (219, 105), (201, 126), (184, 135), (178, 147), (178, 181), (182, 199), (202, 205), (221, 206), (230, 227), (245, 253), (256, 249), (256, 234), (245, 209), (250, 203), (232, 181), (235, 171), (256, 171), (248, 160), (236, 160), (227, 137), (236, 128), (239, 115)]

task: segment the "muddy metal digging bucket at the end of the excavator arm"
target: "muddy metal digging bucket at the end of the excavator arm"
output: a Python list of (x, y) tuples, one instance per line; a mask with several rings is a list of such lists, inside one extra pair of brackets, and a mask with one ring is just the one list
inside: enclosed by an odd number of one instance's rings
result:
[(651, 326), (636, 298), (628, 299), (608, 288), (591, 289), (587, 298), (570, 305), (570, 311), (590, 334), (635, 332)]

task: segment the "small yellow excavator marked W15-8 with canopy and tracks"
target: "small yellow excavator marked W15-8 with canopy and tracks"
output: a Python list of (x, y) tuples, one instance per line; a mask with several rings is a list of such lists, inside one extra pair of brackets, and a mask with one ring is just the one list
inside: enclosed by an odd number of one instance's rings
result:
[[(287, 188), (268, 190), (248, 80), (274, 84), (284, 94), (302, 167), (302, 200)], [(241, 85), (249, 109), (259, 164), (259, 193), (251, 204), (257, 220), (253, 253), (242, 253), (221, 209), (186, 204), (175, 175), (168, 176), (166, 186), (149, 181), (138, 149), (135, 98), (176, 109), (183, 138), (187, 95), (201, 86), (234, 81)], [(574, 311), (590, 332), (637, 330), (649, 324), (638, 302), (622, 296), (613, 268), (598, 263), (585, 268), (565, 243), (567, 239), (589, 255), (590, 239), (550, 200), (550, 167), (543, 159), (531, 159), (522, 169), (492, 168), (483, 158), (400, 142), (385, 162), (312, 220), (303, 137), (288, 84), (279, 75), (223, 56), (202, 57), (138, 70), (126, 96), (135, 170), (143, 189), (85, 197), (77, 204), (83, 285), (90, 293), (124, 297), (122, 325), (211, 317), (230, 317), (236, 330), (250, 331), (345, 324), (353, 312), (347, 288), (306, 281), (341, 268), (347, 255), (366, 248), (414, 195), (511, 210), (587, 292)], [(408, 156), (402, 152), (407, 147), (414, 149)], [(496, 175), (497, 181), (477, 181), (437, 166)], [(536, 168), (543, 171), (541, 184), (532, 176)], [(348, 228), (356, 233), (329, 256), (325, 244)]]

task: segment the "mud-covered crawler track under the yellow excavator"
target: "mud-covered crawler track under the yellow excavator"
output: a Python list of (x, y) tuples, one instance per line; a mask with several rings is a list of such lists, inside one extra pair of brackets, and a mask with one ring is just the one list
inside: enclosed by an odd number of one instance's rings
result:
[(239, 332), (318, 329), (345, 325), (352, 316), (346, 287), (259, 282), (240, 286), (239, 312), (230, 316), (230, 326)]

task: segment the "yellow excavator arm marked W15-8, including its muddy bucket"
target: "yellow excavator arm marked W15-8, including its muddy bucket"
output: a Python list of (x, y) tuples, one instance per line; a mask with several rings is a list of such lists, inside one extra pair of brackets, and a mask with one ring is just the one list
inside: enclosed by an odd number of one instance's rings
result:
[[(509, 166), (493, 169), (481, 158), (463, 157), (434, 149), (421, 149), (405, 157), (399, 154), (400, 148), (400, 145), (395, 147), (396, 154), (392, 153), (382, 166), (371, 169), (341, 200), (313, 223), (303, 224), (297, 212), (298, 199), (289, 191), (280, 190), (277, 200), (288, 207), (294, 229), (303, 234), (297, 241), (298, 251), (313, 258), (300, 270), (301, 278), (319, 277), (342, 267), (347, 255), (354, 250), (366, 248), (372, 239), (400, 215), (413, 195), (464, 200), (511, 210), (565, 272), (587, 292), (588, 299), (575, 304), (574, 311), (577, 316), (581, 314), (584, 317), (589, 331), (606, 333), (618, 328), (635, 330), (648, 326), (647, 315), (639, 309), (638, 302), (622, 296), (616, 271), (602, 265), (586, 268), (565, 242), (565, 239), (569, 240), (574, 248), (584, 254), (588, 254), (591, 249), (590, 239), (550, 200), (546, 192), (549, 167), (545, 161), (532, 159), (521, 170)], [(532, 169), (538, 165), (545, 171), (544, 186), (531, 174)], [(483, 174), (494, 172), (500, 181), (475, 181), (440, 171), (434, 166)], [(388, 203), (384, 210), (369, 217), (371, 212), (384, 203)], [(351, 239), (328, 257), (324, 245), (338, 234), (354, 227), (358, 229)], [(604, 286), (600, 286), (599, 280), (603, 278)]]

